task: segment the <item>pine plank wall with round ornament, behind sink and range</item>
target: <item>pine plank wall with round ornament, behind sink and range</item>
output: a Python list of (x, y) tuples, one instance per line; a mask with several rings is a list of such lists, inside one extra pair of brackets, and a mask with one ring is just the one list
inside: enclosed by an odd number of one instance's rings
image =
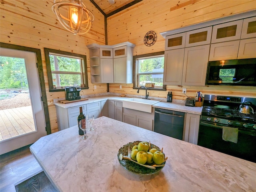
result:
[[(255, 0), (143, 0), (126, 10), (107, 18), (108, 44), (114, 45), (130, 41), (136, 46), (134, 55), (164, 51), (164, 37), (161, 32), (180, 27), (215, 20), (232, 14), (239, 14), (256, 9)], [(154, 45), (144, 45), (144, 35), (155, 31), (157, 40)], [(132, 89), (133, 84), (110, 84), (110, 92), (138, 95)], [(203, 94), (220, 94), (256, 97), (256, 88), (252, 86), (183, 86), (188, 96), (195, 96), (196, 91)], [(186, 99), (181, 86), (167, 85), (172, 90), (173, 99)], [(140, 92), (139, 95), (144, 95)], [(150, 96), (165, 98), (167, 91), (149, 91)]]

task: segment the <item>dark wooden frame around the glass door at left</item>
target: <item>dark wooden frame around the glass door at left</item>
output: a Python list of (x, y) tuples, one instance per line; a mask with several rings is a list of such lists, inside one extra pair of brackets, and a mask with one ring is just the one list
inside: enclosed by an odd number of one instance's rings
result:
[(50, 117), (49, 117), (49, 110), (48, 110), (48, 104), (47, 104), (47, 97), (46, 97), (46, 89), (44, 84), (44, 72), (43, 72), (43, 65), (42, 65), (42, 57), (41, 57), (41, 50), (32, 48), (32, 47), (25, 47), (20, 45), (13, 45), (9, 43), (0, 43), (0, 47), (8, 48), (8, 49), (16, 49), (20, 51), (30, 51), (34, 52), (36, 54), (36, 66), (38, 69), (38, 76), (39, 76), (39, 82), (40, 82), (40, 89), (41, 89), (41, 95), (42, 95), (42, 103), (44, 108), (44, 118), (45, 118), (45, 124), (46, 124), (46, 133), (47, 135), (51, 134), (51, 125), (50, 125)]

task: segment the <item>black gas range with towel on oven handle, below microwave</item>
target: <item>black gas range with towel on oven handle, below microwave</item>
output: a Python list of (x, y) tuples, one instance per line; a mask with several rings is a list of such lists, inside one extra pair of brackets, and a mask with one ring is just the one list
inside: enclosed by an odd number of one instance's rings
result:
[(256, 98), (204, 95), (198, 145), (256, 163), (255, 110)]

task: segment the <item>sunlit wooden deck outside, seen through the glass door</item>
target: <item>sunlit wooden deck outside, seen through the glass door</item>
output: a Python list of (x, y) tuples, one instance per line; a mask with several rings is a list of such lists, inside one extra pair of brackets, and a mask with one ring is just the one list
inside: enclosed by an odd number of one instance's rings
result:
[(0, 110), (0, 141), (35, 131), (31, 106)]

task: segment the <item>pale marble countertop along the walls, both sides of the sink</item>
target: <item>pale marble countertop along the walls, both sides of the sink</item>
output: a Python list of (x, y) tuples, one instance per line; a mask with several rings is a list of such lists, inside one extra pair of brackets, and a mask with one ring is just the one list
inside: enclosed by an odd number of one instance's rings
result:
[[(70, 108), (70, 107), (76, 107), (84, 104), (89, 104), (93, 102), (99, 102), (103, 100), (115, 100), (115, 101), (123, 101), (127, 100), (131, 97), (120, 97), (118, 95), (103, 95), (103, 96), (94, 96), (94, 97), (88, 97), (88, 100), (86, 101), (80, 101), (80, 102), (74, 102), (70, 104), (62, 104), (60, 102), (54, 102), (54, 105), (62, 107), (62, 108)], [(157, 100), (156, 98), (152, 98), (152, 100)], [(190, 113), (190, 114), (198, 114), (201, 115), (203, 107), (189, 107), (185, 106), (184, 103), (169, 103), (169, 102), (163, 102), (160, 101), (154, 105), (152, 105), (153, 108), (161, 108), (166, 110), (174, 110), (178, 112), (184, 112), (184, 113)]]

